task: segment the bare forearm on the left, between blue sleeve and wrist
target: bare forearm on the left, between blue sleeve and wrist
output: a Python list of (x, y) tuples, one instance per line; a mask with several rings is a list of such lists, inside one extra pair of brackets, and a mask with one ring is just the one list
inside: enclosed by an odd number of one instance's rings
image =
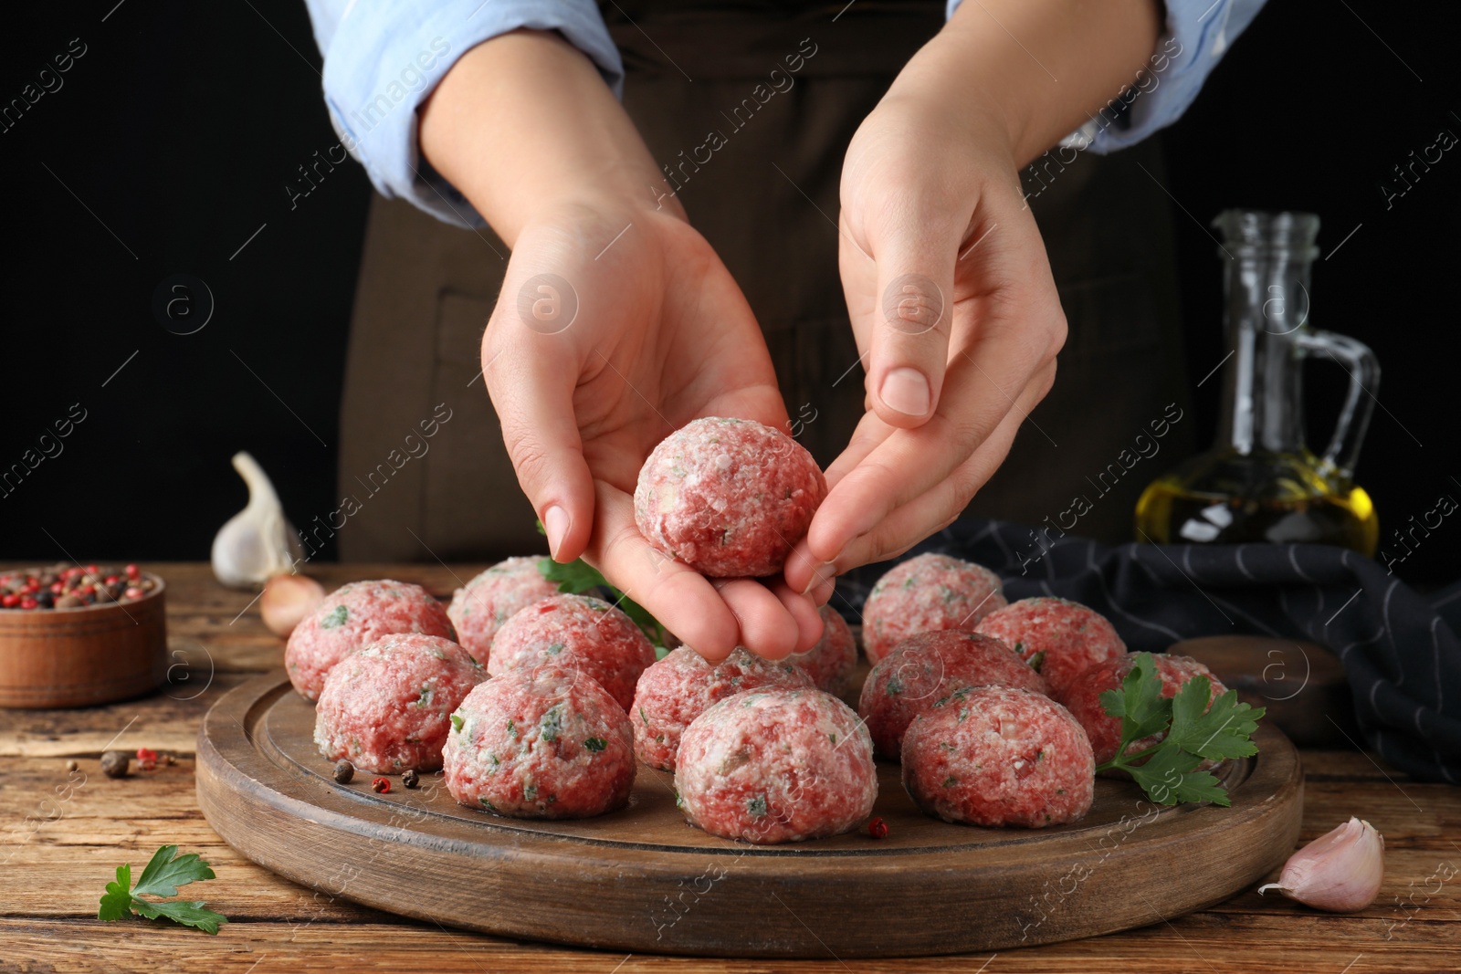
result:
[(543, 31), (468, 51), (421, 110), (421, 152), (508, 244), (535, 215), (612, 196), (656, 200), (663, 183), (593, 63)]

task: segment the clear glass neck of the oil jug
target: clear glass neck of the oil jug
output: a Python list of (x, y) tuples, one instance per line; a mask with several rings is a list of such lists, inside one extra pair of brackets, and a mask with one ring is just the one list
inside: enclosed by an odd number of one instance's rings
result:
[(1296, 340), (1309, 320), (1313, 258), (1287, 248), (1229, 250), (1229, 361), (1218, 435), (1243, 456), (1300, 453), (1303, 367)]

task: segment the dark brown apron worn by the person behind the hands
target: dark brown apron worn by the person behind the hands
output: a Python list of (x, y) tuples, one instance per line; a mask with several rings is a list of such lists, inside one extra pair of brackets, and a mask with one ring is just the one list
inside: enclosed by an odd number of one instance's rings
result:
[[(603, 7), (627, 69), (624, 105), (655, 159), (681, 174), (691, 222), (761, 323), (793, 432), (825, 466), (863, 406), (837, 275), (843, 153), (899, 69), (939, 29), (944, 4)], [(790, 55), (799, 55), (795, 73)], [(754, 111), (742, 107), (747, 99)], [(707, 164), (679, 168), (712, 130), (726, 145)], [(1026, 190), (1039, 190), (1030, 206), (1069, 337), (1055, 388), (967, 514), (1053, 523), (1083, 494), (1091, 510), (1077, 533), (1128, 540), (1141, 488), (1191, 453), (1188, 418), (1161, 440), (1159, 457), (1105, 494), (1094, 489), (1167, 403), (1186, 407), (1167, 202), (1138, 162), (1163, 178), (1154, 140), (1110, 158), (1083, 152), (1046, 166), (1043, 181), (1027, 178)], [(506, 256), (488, 229), (451, 228), (409, 203), (373, 200), (340, 415), (339, 489), (356, 499), (339, 530), (342, 559), (545, 551), (479, 377)], [(403, 437), (447, 410), (427, 450), (418, 444), (400, 463)], [(1100, 485), (1113, 480), (1107, 473)]]

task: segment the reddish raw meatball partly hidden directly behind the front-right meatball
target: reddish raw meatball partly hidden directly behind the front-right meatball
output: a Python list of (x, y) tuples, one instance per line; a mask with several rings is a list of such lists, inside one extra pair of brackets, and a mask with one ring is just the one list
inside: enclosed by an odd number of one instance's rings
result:
[(878, 660), (862, 685), (858, 713), (878, 753), (897, 761), (915, 717), (951, 694), (974, 686), (1017, 686), (1048, 694), (1049, 685), (999, 640), (963, 629), (920, 632)]

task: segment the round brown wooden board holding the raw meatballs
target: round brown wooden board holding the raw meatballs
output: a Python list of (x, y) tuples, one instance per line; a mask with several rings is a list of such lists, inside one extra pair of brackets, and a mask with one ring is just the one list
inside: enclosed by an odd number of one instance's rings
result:
[(918, 812), (880, 762), (878, 841), (787, 845), (706, 835), (669, 774), (640, 765), (630, 806), (535, 822), (456, 805), (440, 774), (377, 794), (340, 786), (314, 748), (314, 708), (283, 672), (231, 691), (199, 729), (197, 797), (262, 866), (392, 913), (501, 936), (714, 956), (853, 958), (988, 951), (1159, 923), (1249, 888), (1293, 850), (1299, 755), (1261, 727), (1221, 775), (1232, 808), (1157, 809), (1099, 780), (1078, 824), (948, 825)]

